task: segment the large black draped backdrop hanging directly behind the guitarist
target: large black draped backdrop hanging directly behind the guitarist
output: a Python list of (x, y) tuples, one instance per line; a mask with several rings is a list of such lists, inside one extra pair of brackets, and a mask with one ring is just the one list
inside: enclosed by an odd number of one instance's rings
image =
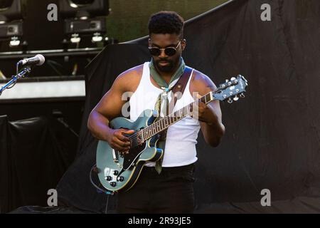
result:
[[(270, 4), (272, 21), (260, 19), (262, 4)], [(188, 66), (216, 84), (242, 74), (250, 85), (244, 100), (221, 104), (222, 144), (212, 148), (198, 138), (199, 212), (214, 212), (209, 204), (221, 202), (260, 202), (263, 189), (271, 190), (272, 203), (287, 202), (276, 212), (303, 212), (308, 204), (320, 212), (319, 15), (317, 0), (236, 0), (186, 23)], [(107, 197), (88, 179), (97, 142), (87, 117), (119, 73), (149, 61), (146, 41), (108, 46), (88, 66), (78, 159), (58, 185), (61, 202), (104, 212)], [(299, 197), (310, 203), (290, 204)], [(260, 210), (257, 204), (242, 212)]]

